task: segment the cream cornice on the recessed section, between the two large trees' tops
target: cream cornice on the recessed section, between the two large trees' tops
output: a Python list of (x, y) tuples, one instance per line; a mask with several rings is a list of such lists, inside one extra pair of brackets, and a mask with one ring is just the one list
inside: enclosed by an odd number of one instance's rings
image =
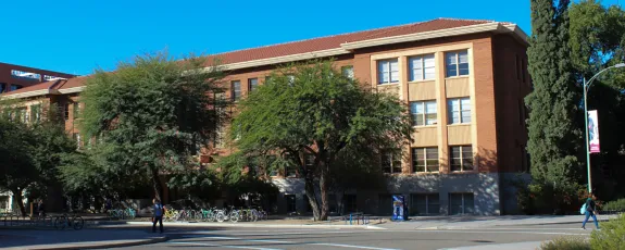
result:
[(247, 68), (247, 67), (254, 67), (254, 66), (264, 66), (271, 64), (280, 64), (286, 62), (296, 62), (315, 58), (326, 58), (339, 54), (348, 54), (350, 53), (349, 50), (345, 50), (342, 48), (329, 49), (329, 50), (320, 50), (307, 53), (299, 53), (299, 54), (289, 54), (284, 57), (277, 58), (268, 58), (268, 59), (259, 59), (252, 60), (247, 62), (238, 62), (238, 63), (230, 63), (223, 65), (225, 70), (239, 70), (239, 68)]

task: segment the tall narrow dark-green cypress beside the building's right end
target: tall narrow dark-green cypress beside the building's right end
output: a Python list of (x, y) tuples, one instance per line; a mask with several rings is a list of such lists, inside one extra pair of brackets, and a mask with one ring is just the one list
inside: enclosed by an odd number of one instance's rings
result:
[[(527, 150), (534, 182), (555, 193), (575, 193), (580, 175), (577, 159), (582, 133), (575, 117), (579, 88), (568, 46), (568, 0), (532, 0), (532, 38), (527, 51), (534, 91), (529, 108)], [(553, 199), (551, 199), (553, 200)], [(560, 205), (561, 201), (557, 205)]]

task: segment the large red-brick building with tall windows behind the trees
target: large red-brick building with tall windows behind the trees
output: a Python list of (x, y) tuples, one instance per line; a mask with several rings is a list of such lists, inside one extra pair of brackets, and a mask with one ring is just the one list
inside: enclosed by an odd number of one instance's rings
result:
[[(511, 23), (438, 18), (213, 57), (229, 71), (224, 84), (233, 100), (245, 98), (283, 63), (334, 58), (345, 74), (410, 107), (415, 140), (404, 149), (408, 157), (382, 155), (387, 190), (332, 195), (332, 210), (388, 214), (397, 193), (407, 197), (413, 215), (510, 214), (517, 212), (510, 180), (528, 172), (526, 39)], [(83, 82), (60, 79), (4, 96), (64, 107), (66, 128), (79, 140), (73, 113)], [(307, 212), (303, 182), (286, 175), (274, 177), (278, 212)]]

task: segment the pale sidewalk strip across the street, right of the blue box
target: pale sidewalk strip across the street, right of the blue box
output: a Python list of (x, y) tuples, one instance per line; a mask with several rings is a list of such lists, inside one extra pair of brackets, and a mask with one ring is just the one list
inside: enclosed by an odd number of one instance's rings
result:
[[(617, 215), (600, 215), (600, 222)], [(527, 226), (551, 224), (575, 224), (584, 221), (584, 215), (503, 215), (503, 216), (440, 216), (413, 217), (408, 222), (389, 222), (379, 226), (387, 229), (468, 229), (496, 226)]]

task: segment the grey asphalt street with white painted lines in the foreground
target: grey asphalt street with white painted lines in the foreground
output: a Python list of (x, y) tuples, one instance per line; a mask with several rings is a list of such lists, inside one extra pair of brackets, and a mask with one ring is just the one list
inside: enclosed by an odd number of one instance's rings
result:
[[(477, 229), (284, 229), (170, 227), (170, 240), (124, 249), (449, 249), (587, 237), (577, 224), (505, 226)], [(137, 228), (139, 229), (139, 228)]]

